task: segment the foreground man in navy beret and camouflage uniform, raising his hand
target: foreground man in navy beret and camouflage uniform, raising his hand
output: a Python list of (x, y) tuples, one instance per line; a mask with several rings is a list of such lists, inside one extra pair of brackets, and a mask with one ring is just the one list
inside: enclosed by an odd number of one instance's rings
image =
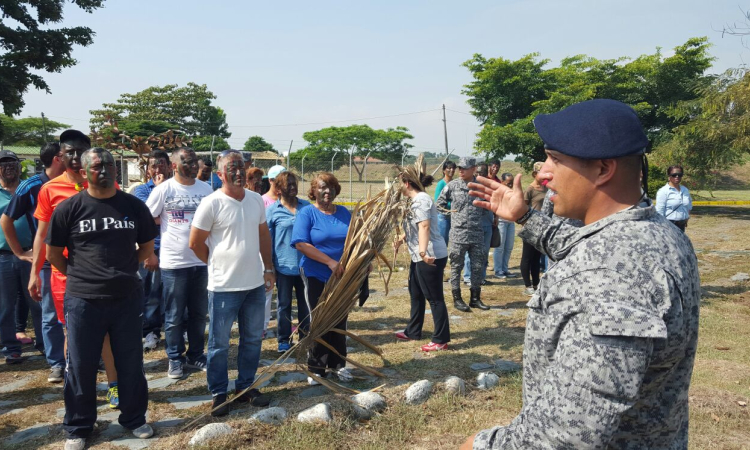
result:
[(520, 175), (512, 190), (472, 184), (553, 263), (528, 303), (523, 409), (462, 448), (686, 449), (700, 280), (690, 241), (639, 206), (640, 122), (592, 100), (535, 126), (554, 212), (584, 226), (530, 211)]

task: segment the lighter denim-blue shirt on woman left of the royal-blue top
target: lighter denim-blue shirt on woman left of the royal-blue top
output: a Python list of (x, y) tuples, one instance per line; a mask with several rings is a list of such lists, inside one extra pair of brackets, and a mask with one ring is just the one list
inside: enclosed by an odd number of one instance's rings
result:
[(273, 266), (287, 276), (299, 275), (302, 254), (292, 247), (292, 231), (297, 215), (303, 208), (310, 206), (307, 200), (297, 200), (297, 214), (292, 214), (281, 200), (276, 200), (266, 207), (266, 223), (271, 232), (271, 248), (273, 250)]

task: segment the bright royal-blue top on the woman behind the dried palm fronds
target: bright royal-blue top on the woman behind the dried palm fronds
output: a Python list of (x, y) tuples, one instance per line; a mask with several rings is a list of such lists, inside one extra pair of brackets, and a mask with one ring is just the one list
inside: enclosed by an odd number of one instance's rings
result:
[[(336, 207), (335, 214), (323, 214), (315, 206), (304, 208), (297, 213), (292, 231), (292, 246), (305, 242), (323, 252), (326, 256), (339, 261), (344, 254), (346, 233), (352, 214), (343, 206)], [(331, 278), (331, 269), (307, 256), (302, 256), (300, 267), (306, 277), (317, 278), (322, 282)]]

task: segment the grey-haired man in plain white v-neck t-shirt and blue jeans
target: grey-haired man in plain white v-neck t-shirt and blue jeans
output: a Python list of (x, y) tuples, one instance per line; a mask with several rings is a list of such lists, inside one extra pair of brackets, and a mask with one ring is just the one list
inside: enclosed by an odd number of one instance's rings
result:
[[(242, 154), (227, 150), (219, 155), (221, 189), (198, 207), (190, 230), (190, 248), (208, 264), (208, 389), (216, 409), (227, 400), (227, 356), (232, 323), (237, 320), (240, 346), (237, 352), (237, 393), (255, 380), (260, 361), (265, 293), (273, 289), (271, 235), (260, 195), (244, 188)], [(265, 267), (265, 269), (264, 269)], [(270, 400), (251, 389), (235, 401), (267, 406)]]

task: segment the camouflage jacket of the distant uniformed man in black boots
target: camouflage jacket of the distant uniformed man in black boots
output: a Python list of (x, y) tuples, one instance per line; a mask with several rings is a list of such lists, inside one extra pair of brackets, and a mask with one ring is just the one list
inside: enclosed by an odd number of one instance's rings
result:
[[(484, 208), (474, 206), (475, 197), (469, 195), (469, 183), (456, 178), (445, 185), (437, 200), (437, 206), (443, 214), (451, 217), (449, 242), (459, 244), (479, 244), (484, 242), (482, 225), (492, 220), (492, 213)], [(450, 203), (450, 212), (447, 213)]]

